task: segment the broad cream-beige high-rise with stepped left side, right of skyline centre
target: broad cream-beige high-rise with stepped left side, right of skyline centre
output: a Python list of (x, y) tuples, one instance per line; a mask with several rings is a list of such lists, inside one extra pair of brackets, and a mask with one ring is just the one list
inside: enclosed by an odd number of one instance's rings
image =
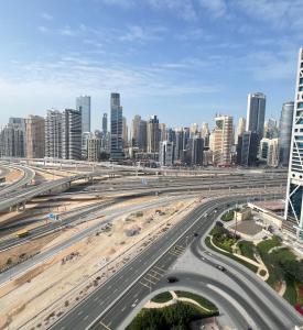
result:
[(213, 136), (213, 163), (216, 166), (231, 164), (232, 117), (216, 117), (216, 127)]

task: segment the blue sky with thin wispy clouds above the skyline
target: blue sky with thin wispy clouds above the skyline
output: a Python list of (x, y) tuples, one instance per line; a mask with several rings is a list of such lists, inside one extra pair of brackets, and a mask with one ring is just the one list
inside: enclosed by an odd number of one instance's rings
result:
[(110, 91), (172, 127), (246, 116), (253, 91), (279, 118), (302, 31), (302, 0), (3, 0), (0, 124), (90, 95), (97, 129)]

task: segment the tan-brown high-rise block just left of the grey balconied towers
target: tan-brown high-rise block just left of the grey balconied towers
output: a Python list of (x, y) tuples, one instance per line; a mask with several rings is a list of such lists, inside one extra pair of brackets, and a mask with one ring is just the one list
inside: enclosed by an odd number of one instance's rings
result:
[(45, 155), (45, 120), (40, 116), (25, 118), (25, 154), (28, 158), (43, 158)]

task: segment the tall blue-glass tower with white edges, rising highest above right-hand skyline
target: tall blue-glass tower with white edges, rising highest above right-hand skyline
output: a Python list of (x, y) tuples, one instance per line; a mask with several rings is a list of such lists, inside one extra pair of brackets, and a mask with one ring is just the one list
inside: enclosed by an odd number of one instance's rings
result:
[(263, 138), (267, 98), (262, 92), (249, 94), (247, 99), (246, 131), (256, 132)]

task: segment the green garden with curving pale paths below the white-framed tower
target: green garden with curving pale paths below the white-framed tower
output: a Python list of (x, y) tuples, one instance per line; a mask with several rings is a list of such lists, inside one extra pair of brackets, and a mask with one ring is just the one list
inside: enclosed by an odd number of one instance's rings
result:
[[(303, 261), (297, 261), (289, 248), (283, 248), (279, 237), (273, 235), (255, 245), (252, 242), (235, 238), (234, 232), (220, 226), (215, 226), (210, 235), (205, 239), (209, 249), (241, 263), (255, 273), (258, 267), (232, 254), (232, 245), (237, 243), (238, 253), (253, 262), (257, 261), (255, 254), (260, 255), (269, 273), (267, 283), (278, 292), (285, 283), (283, 297), (303, 315)], [(259, 275), (266, 276), (266, 270), (261, 270)]]

